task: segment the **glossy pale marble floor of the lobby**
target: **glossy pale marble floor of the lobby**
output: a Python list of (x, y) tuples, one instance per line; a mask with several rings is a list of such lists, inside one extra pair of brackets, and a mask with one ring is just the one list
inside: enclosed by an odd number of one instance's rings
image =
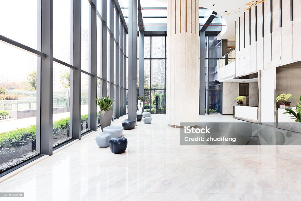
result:
[(123, 154), (99, 148), (97, 131), (3, 181), (0, 192), (43, 201), (301, 200), (300, 146), (180, 146), (179, 130), (166, 126), (166, 116), (152, 118), (124, 131)]

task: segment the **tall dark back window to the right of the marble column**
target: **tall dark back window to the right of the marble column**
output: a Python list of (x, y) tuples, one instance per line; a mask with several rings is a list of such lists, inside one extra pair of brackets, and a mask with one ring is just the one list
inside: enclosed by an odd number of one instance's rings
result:
[(222, 56), (221, 40), (207, 36), (205, 47), (205, 114), (221, 114), (222, 83), (217, 80), (217, 60)]

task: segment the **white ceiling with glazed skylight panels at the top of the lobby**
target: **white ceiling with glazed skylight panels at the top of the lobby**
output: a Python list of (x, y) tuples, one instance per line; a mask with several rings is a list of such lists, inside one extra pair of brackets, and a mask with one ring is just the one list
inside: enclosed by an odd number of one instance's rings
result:
[[(218, 15), (213, 23), (221, 23), (222, 32), (219, 33), (219, 39), (235, 40), (235, 20), (250, 7), (255, 6), (264, 0), (199, 0), (200, 24), (204, 24), (213, 11)], [(141, 12), (144, 24), (165, 23), (167, 21), (167, 0), (140, 0)], [(128, 21), (129, 0), (119, 0), (120, 7), (125, 20)], [(155, 8), (154, 8), (155, 7)]]

